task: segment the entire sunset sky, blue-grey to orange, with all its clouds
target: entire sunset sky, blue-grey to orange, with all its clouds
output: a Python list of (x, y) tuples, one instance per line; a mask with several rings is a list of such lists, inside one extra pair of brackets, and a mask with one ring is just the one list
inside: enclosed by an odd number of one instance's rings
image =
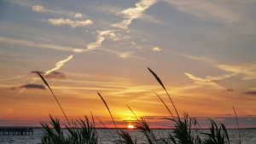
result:
[[(92, 115), (96, 126), (177, 112), (256, 127), (254, 0), (0, 0), (0, 126)], [(127, 107), (128, 106), (128, 107)], [(130, 108), (131, 107), (131, 110)]]

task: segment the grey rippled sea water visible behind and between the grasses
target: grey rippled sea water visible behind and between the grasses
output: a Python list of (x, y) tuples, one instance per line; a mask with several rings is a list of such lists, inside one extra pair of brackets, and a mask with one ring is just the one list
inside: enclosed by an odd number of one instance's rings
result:
[[(137, 138), (137, 143), (145, 143), (144, 136), (138, 130), (127, 130), (132, 138)], [(115, 140), (118, 140), (116, 130), (97, 130), (100, 136), (101, 144), (113, 144)], [(154, 130), (155, 135), (167, 135), (170, 130)], [(240, 130), (241, 143), (242, 144), (255, 144), (256, 143), (256, 130)], [(237, 144), (238, 131), (228, 130), (230, 136), (230, 143)], [(1, 144), (39, 144), (41, 143), (41, 136), (43, 129), (34, 129), (33, 135), (0, 135)]]

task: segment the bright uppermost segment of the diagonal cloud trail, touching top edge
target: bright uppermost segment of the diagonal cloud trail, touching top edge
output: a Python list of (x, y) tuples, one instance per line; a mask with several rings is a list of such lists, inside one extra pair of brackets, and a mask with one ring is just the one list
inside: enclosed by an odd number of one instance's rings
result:
[(136, 3), (135, 8), (125, 9), (120, 14), (124, 15), (125, 20), (122, 20), (119, 23), (113, 24), (114, 27), (119, 27), (120, 29), (128, 29), (128, 26), (131, 24), (131, 21), (142, 16), (143, 12), (156, 3), (156, 0), (141, 0), (139, 3)]

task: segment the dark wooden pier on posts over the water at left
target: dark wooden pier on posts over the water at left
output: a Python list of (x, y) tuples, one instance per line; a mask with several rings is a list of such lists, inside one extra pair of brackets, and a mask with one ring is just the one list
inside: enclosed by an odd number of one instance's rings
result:
[(32, 128), (0, 128), (0, 135), (33, 135)]

